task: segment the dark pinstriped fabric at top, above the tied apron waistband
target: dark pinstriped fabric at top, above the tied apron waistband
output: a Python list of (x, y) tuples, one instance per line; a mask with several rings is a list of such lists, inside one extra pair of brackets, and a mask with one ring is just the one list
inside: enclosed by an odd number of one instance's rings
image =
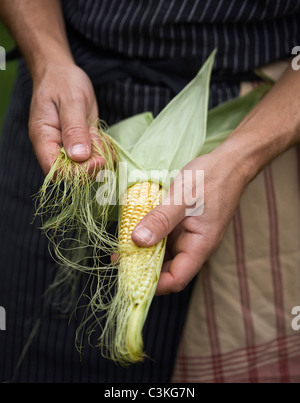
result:
[[(66, 21), (101, 49), (126, 57), (199, 56), (247, 71), (290, 54), (298, 0), (63, 0)], [(298, 18), (297, 18), (298, 14)]]

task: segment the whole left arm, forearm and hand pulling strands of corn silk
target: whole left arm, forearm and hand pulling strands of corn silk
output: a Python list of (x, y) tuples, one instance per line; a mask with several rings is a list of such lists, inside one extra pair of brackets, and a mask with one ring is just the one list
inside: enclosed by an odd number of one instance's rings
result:
[(73, 59), (60, 0), (0, 0), (0, 16), (33, 79), (29, 138), (48, 174), (61, 146), (89, 172), (103, 164), (91, 156), (90, 122), (98, 117), (93, 85)]

